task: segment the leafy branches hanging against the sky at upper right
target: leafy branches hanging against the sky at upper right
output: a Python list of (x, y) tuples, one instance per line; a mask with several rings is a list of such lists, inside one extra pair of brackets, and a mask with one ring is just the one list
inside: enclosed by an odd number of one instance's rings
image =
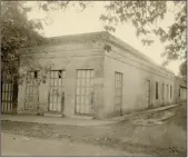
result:
[(166, 45), (162, 57), (166, 63), (187, 56), (187, 6), (186, 1), (174, 1), (175, 22), (165, 29), (160, 26), (168, 9), (167, 1), (110, 1), (106, 4), (106, 14), (100, 19), (109, 31), (116, 30), (116, 24), (130, 21), (136, 28), (137, 37), (144, 45), (154, 42), (154, 34)]

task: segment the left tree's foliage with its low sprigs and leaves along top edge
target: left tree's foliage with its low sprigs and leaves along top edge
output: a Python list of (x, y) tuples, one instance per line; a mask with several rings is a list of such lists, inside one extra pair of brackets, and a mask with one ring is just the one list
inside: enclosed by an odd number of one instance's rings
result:
[[(70, 7), (81, 11), (90, 6), (92, 2), (85, 1), (37, 1), (37, 7), (44, 11), (68, 9)], [(38, 30), (42, 29), (43, 19), (28, 20), (27, 13), (31, 11), (31, 7), (27, 6), (23, 1), (2, 1), (1, 2), (1, 60), (2, 60), (2, 73), (11, 72), (13, 76), (19, 77), (22, 81), (22, 77), (26, 72), (20, 73), (18, 69), (18, 62), (20, 59), (19, 49), (27, 46), (37, 46), (44, 41), (44, 39), (38, 33)], [(26, 58), (22, 66), (30, 67), (30, 61), (36, 62), (32, 58)], [(20, 62), (19, 62), (20, 65)], [(47, 77), (47, 66), (39, 66), (41, 70), (41, 80)], [(31, 68), (32, 69), (32, 68)], [(48, 69), (49, 70), (49, 69)]]

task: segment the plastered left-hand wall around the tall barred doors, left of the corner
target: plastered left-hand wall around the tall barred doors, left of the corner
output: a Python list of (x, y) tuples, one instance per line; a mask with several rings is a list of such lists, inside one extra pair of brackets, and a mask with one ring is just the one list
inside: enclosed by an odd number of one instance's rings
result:
[[(28, 51), (28, 50), (24, 50)], [(32, 69), (37, 70), (40, 66), (52, 65), (51, 70), (65, 70), (65, 116), (75, 115), (76, 106), (76, 81), (78, 69), (93, 69), (93, 87), (95, 87), (95, 108), (93, 116), (97, 118), (102, 117), (103, 106), (103, 51), (102, 46), (93, 45), (55, 45), (43, 46), (32, 49), (31, 61)], [(27, 55), (23, 55), (24, 58)], [(24, 60), (22, 56), (22, 60)], [(24, 71), (30, 70), (28, 66), (21, 67)], [(27, 110), (26, 103), (26, 78), (22, 85), (19, 86), (19, 107), (18, 112), (47, 112), (49, 106), (49, 78), (46, 83), (39, 86), (39, 109)]]

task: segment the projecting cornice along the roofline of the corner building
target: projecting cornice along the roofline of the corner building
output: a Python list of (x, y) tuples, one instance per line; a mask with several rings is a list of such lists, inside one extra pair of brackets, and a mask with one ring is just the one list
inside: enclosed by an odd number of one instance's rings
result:
[[(62, 36), (62, 37), (52, 37), (46, 38), (44, 41), (40, 46), (49, 46), (49, 45), (113, 45), (122, 50), (126, 50), (128, 53), (133, 55), (135, 57), (142, 59), (144, 61), (152, 65), (158, 70), (164, 70), (174, 75), (171, 71), (167, 70), (164, 67), (160, 67), (152, 62), (147, 56), (142, 52), (136, 50), (133, 47), (129, 46), (128, 43), (123, 42), (122, 40), (116, 38), (115, 36), (108, 33), (107, 31), (101, 32), (92, 32), (92, 33), (80, 33), (80, 34), (70, 34), (70, 36)], [(29, 48), (29, 47), (28, 47)], [(29, 49), (32, 49), (31, 47)]]

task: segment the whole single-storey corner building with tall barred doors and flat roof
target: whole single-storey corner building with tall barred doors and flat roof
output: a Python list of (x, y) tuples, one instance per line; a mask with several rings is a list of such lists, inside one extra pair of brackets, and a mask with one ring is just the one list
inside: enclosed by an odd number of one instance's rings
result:
[[(176, 77), (107, 32), (21, 49), (18, 113), (102, 119), (176, 102)], [(41, 81), (43, 70), (49, 67)]]

